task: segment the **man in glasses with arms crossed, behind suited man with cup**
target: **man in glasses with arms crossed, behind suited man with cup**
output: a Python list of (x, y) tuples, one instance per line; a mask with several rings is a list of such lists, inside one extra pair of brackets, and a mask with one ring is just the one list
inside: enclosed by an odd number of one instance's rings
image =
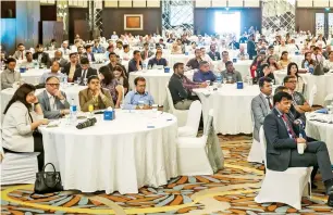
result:
[(304, 98), (304, 96), (300, 92), (295, 91), (296, 85), (297, 85), (297, 78), (292, 75), (287, 75), (283, 79), (283, 84), (286, 88), (288, 88), (289, 93), (293, 97), (293, 105), (299, 113), (310, 112), (311, 106), (307, 102), (307, 100)]

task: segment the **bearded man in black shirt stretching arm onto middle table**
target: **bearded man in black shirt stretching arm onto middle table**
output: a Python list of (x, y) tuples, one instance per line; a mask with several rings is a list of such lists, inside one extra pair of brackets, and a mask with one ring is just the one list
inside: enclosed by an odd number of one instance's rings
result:
[(169, 90), (172, 97), (174, 108), (177, 110), (189, 110), (189, 106), (194, 100), (198, 100), (197, 97), (192, 96), (192, 89), (205, 88), (206, 83), (196, 84), (189, 80), (184, 75), (184, 64), (175, 63), (173, 65), (173, 75), (169, 81)]

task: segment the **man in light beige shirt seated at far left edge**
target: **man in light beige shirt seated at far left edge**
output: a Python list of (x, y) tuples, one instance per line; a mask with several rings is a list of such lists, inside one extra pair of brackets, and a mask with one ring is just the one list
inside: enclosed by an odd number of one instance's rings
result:
[(1, 89), (12, 88), (14, 83), (21, 80), (21, 73), (15, 71), (16, 60), (9, 58), (7, 68), (1, 73)]

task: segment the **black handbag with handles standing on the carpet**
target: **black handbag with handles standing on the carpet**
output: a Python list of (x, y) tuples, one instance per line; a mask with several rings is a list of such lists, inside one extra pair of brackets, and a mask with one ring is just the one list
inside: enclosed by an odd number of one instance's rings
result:
[[(52, 165), (53, 172), (45, 172), (47, 165)], [(47, 163), (42, 170), (36, 174), (34, 193), (44, 194), (59, 191), (63, 191), (60, 173), (55, 172), (53, 164)]]

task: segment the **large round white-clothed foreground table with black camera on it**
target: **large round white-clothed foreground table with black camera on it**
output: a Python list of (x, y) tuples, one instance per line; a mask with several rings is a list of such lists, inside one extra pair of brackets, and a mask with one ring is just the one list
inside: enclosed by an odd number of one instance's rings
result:
[[(137, 193), (177, 176), (176, 118), (152, 111), (116, 111), (114, 121), (92, 127), (40, 128), (45, 163), (60, 170), (65, 190)], [(155, 126), (148, 128), (147, 126)]]

